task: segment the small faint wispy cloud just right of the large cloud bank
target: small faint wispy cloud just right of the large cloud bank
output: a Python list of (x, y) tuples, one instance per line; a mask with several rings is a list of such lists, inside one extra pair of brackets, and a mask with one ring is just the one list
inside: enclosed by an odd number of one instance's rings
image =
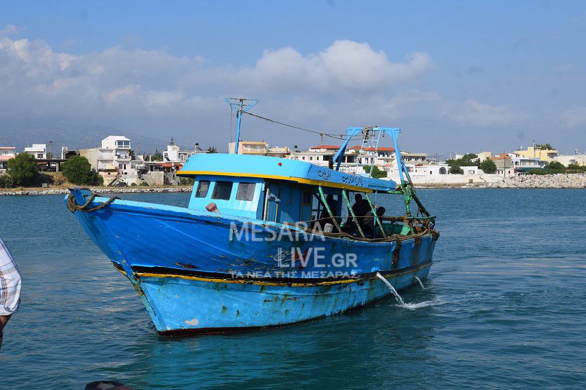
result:
[(525, 118), (507, 105), (489, 105), (472, 99), (452, 105), (444, 114), (456, 122), (481, 127), (510, 125)]

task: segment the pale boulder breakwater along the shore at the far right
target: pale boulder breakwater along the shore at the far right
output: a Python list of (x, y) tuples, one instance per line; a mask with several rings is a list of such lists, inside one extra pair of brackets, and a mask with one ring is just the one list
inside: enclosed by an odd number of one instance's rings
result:
[(525, 174), (486, 183), (487, 188), (586, 188), (586, 174)]

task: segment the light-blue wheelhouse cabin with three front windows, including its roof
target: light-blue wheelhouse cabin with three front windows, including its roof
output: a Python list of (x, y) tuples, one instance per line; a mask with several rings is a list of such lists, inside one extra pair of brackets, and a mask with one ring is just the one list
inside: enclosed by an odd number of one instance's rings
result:
[[(265, 156), (192, 155), (177, 174), (194, 179), (190, 209), (277, 224), (305, 223), (310, 228), (326, 217), (334, 225), (333, 233), (342, 233), (354, 192), (368, 197), (396, 190), (394, 181)], [(383, 231), (409, 233), (404, 227), (391, 221)]]

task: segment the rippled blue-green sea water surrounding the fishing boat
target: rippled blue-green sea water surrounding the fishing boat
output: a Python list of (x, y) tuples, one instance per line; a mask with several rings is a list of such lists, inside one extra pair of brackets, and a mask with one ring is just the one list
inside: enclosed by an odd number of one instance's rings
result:
[[(0, 389), (586, 386), (586, 190), (420, 190), (442, 236), (425, 289), (229, 336), (160, 337), (62, 196), (0, 196), (23, 276)], [(184, 206), (189, 194), (123, 198)], [(381, 203), (381, 199), (379, 199)]]

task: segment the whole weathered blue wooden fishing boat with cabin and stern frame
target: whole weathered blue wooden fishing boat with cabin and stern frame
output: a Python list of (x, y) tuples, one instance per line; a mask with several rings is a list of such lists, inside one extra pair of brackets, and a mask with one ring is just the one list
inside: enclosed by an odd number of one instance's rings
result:
[[(192, 155), (178, 172), (194, 179), (185, 208), (80, 188), (71, 188), (66, 203), (129, 279), (159, 333), (302, 322), (368, 304), (429, 273), (439, 233), (409, 179), (399, 132), (349, 128), (331, 168), (277, 157)], [(348, 143), (376, 134), (394, 142), (400, 183), (340, 172)], [(360, 213), (350, 202), (357, 194)], [(375, 209), (370, 196), (383, 195), (402, 196), (405, 213)]]

